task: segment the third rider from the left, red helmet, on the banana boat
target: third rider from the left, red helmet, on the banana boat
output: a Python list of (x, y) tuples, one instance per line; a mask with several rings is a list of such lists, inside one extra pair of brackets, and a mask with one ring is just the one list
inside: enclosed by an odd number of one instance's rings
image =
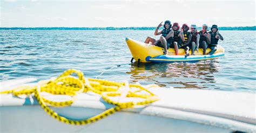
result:
[(187, 24), (183, 24), (181, 27), (181, 31), (180, 33), (184, 36), (184, 41), (181, 43), (180, 48), (185, 49), (185, 56), (190, 56), (189, 50), (190, 48), (188, 47), (188, 45), (190, 44), (192, 35), (190, 32), (188, 32), (188, 29), (190, 29), (190, 27)]

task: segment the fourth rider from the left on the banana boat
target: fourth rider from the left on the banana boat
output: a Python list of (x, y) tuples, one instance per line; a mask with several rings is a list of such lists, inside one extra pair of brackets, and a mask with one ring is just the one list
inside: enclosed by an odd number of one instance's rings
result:
[(191, 54), (194, 55), (194, 50), (197, 50), (198, 52), (200, 35), (197, 32), (197, 25), (191, 25), (190, 27), (191, 27), (190, 33), (192, 37), (191, 37), (190, 45), (188, 45), (188, 47), (190, 47), (191, 49)]

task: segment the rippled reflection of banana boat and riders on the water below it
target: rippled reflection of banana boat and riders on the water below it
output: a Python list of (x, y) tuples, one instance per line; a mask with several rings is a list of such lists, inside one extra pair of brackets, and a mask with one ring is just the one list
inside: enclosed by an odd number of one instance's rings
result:
[(142, 63), (137, 67), (133, 63), (130, 82), (157, 84), (161, 87), (175, 88), (218, 88), (213, 73), (218, 72), (219, 60), (207, 60), (197, 63)]

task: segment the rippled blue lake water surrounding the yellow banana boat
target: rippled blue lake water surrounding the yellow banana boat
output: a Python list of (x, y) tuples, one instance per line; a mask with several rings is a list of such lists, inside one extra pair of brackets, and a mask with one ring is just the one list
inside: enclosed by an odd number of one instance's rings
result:
[[(0, 79), (85, 77), (162, 87), (256, 91), (256, 31), (220, 31), (225, 56), (197, 63), (130, 63), (125, 38), (144, 41), (154, 31), (0, 30)], [(158, 38), (158, 37), (156, 37)], [(117, 67), (120, 65), (120, 67)], [(102, 73), (102, 75), (100, 75)]]

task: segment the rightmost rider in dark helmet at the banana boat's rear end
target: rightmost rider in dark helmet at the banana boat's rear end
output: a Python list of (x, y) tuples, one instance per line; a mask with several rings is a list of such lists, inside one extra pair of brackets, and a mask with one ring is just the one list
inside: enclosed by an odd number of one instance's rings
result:
[(218, 41), (220, 40), (224, 40), (223, 36), (221, 36), (221, 34), (218, 32), (218, 26), (217, 25), (212, 25), (211, 27), (211, 31), (210, 31), (210, 38), (211, 38), (211, 43), (208, 46), (208, 48), (212, 49), (208, 55), (212, 55), (215, 53), (215, 51), (217, 51), (217, 45), (218, 45)]

